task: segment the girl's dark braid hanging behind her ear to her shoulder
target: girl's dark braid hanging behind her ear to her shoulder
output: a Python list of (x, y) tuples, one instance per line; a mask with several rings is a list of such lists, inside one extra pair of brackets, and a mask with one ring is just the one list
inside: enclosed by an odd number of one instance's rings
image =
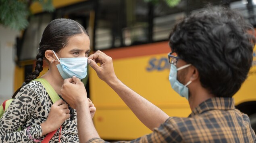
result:
[[(33, 79), (36, 79), (40, 72), (42, 72), (43, 70), (43, 58), (44, 58), (44, 55), (41, 54), (41, 53), (38, 53), (37, 56), (36, 56), (36, 62), (35, 62), (35, 71), (33, 71), (32, 75), (29, 75), (27, 77), (27, 79), (25, 80), (25, 82), (22, 84), (21, 87), (23, 87), (24, 85), (28, 84), (30, 81), (32, 81)], [(21, 90), (21, 87), (19, 89), (17, 89), (17, 91), (15, 91), (15, 93), (12, 95), (12, 98), (14, 98), (17, 93), (19, 93), (19, 91)]]

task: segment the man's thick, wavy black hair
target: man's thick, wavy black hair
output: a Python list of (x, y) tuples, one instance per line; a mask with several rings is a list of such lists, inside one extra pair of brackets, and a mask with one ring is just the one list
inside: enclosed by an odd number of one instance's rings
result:
[(205, 8), (173, 28), (173, 52), (198, 70), (200, 83), (215, 97), (232, 97), (252, 66), (254, 28), (227, 8)]

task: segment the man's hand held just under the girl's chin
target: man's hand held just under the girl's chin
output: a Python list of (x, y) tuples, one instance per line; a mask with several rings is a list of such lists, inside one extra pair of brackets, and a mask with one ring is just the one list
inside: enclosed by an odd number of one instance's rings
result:
[(80, 104), (86, 104), (89, 107), (85, 87), (77, 77), (65, 79), (60, 92), (62, 94), (62, 98), (73, 109), (76, 109)]

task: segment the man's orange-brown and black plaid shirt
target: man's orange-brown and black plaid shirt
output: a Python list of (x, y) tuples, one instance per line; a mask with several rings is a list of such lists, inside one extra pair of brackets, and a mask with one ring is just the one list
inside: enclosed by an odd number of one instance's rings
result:
[[(105, 143), (94, 138), (89, 143)], [(249, 117), (235, 109), (234, 99), (215, 97), (196, 107), (187, 118), (170, 117), (154, 132), (118, 143), (256, 143)]]

